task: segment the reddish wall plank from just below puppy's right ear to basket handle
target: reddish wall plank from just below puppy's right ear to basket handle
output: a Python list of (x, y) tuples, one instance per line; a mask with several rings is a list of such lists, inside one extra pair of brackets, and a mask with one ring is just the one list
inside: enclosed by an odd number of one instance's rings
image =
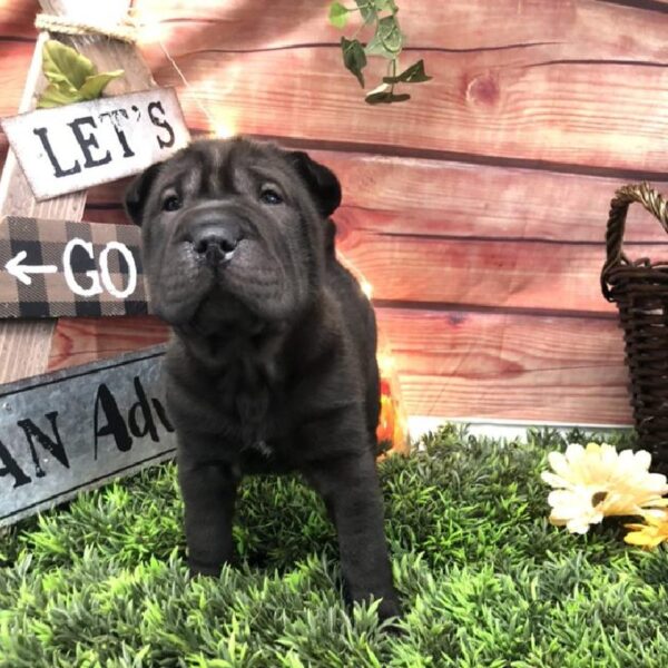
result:
[[(495, 242), (353, 233), (345, 257), (374, 298), (549, 312), (612, 313), (600, 292), (602, 244)], [(629, 246), (629, 253), (633, 247)], [(642, 255), (668, 256), (665, 245)], [(636, 255), (636, 254), (633, 254)]]

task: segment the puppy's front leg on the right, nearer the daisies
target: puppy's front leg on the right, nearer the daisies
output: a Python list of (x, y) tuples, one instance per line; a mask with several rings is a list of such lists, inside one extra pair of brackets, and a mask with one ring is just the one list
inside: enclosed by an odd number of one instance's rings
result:
[(383, 530), (383, 501), (374, 456), (340, 455), (307, 469), (306, 478), (324, 498), (336, 524), (341, 568), (354, 601), (371, 596), (383, 601), (379, 615), (399, 615)]

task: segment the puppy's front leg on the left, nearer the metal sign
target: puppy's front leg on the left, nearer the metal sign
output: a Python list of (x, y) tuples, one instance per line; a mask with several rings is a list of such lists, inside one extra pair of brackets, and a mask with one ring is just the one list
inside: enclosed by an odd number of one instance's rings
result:
[(228, 464), (199, 462), (180, 443), (177, 465), (190, 572), (217, 576), (234, 551), (232, 521), (237, 480)]

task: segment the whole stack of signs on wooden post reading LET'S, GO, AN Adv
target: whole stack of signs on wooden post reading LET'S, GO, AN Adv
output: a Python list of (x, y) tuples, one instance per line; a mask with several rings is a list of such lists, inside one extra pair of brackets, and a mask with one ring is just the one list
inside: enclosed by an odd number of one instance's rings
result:
[[(78, 0), (39, 1), (77, 32)], [(128, 9), (108, 0), (97, 13), (117, 21)], [(20, 114), (2, 119), (11, 150), (0, 180), (0, 527), (175, 449), (163, 347), (42, 374), (53, 317), (148, 311), (137, 229), (81, 223), (86, 188), (137, 174), (189, 139), (174, 90), (155, 87), (134, 45), (86, 22), (84, 35), (51, 38), (122, 69), (110, 95), (32, 111), (45, 89), (42, 33)]]

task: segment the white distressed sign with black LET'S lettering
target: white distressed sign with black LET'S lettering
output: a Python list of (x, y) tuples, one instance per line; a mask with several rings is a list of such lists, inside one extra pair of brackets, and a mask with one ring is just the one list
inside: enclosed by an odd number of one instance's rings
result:
[(189, 141), (173, 88), (38, 109), (0, 125), (38, 200), (138, 174)]

